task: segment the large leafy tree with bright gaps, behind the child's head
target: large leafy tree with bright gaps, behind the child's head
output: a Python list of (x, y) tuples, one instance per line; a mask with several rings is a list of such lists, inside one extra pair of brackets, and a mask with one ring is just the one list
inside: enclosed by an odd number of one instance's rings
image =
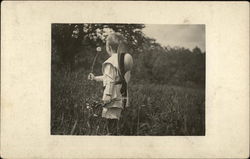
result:
[(97, 46), (104, 46), (109, 32), (120, 32), (131, 52), (140, 50), (144, 40), (143, 24), (52, 24), (52, 63), (72, 68), (76, 55), (86, 56)]

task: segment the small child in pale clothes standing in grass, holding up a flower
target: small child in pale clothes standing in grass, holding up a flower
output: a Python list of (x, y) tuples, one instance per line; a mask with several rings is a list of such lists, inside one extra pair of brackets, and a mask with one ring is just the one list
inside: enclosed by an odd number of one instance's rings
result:
[(124, 37), (112, 33), (107, 37), (106, 50), (110, 56), (102, 65), (102, 76), (90, 73), (89, 80), (102, 81), (104, 86), (102, 100), (105, 107), (102, 117), (107, 119), (108, 135), (116, 135), (121, 112), (128, 107), (128, 82), (131, 77), (133, 59), (125, 51)]

